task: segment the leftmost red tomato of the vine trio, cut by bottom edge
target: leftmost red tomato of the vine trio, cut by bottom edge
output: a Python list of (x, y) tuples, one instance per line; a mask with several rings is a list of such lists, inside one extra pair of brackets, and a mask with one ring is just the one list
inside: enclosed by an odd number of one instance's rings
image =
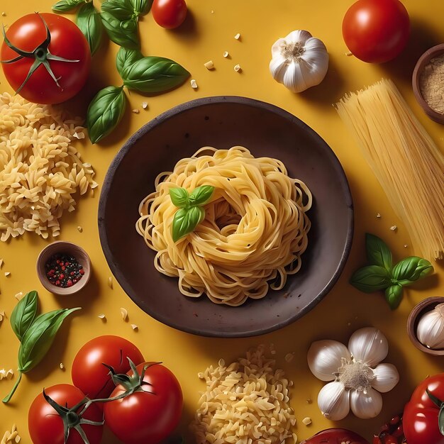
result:
[[(85, 395), (70, 384), (58, 384), (45, 389), (46, 394), (50, 396), (57, 404), (71, 408), (82, 401)], [(82, 410), (80, 407), (77, 413)], [(100, 409), (91, 404), (82, 414), (82, 418), (90, 421), (102, 421)], [(89, 444), (99, 444), (103, 426), (91, 426), (89, 424), (80, 425), (87, 435)], [(48, 401), (39, 394), (31, 404), (28, 412), (28, 428), (30, 438), (33, 444), (63, 444), (63, 421), (55, 409), (48, 404)], [(66, 444), (84, 444), (84, 440), (79, 432), (71, 428), (70, 437)]]

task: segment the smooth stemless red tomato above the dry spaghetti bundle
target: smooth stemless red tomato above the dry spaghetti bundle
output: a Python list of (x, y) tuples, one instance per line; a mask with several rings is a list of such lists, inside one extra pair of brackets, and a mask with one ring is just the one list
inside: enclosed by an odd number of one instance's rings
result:
[(343, 20), (345, 44), (364, 62), (394, 59), (409, 40), (409, 13), (399, 0), (359, 0)]

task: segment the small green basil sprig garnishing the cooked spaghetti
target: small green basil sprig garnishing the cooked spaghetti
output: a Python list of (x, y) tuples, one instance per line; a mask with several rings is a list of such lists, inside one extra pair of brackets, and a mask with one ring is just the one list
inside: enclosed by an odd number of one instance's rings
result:
[(172, 240), (184, 238), (194, 231), (194, 228), (205, 218), (203, 206), (209, 202), (213, 196), (214, 187), (202, 185), (188, 194), (184, 188), (170, 188), (170, 198), (174, 206), (179, 209), (174, 214), (172, 221)]

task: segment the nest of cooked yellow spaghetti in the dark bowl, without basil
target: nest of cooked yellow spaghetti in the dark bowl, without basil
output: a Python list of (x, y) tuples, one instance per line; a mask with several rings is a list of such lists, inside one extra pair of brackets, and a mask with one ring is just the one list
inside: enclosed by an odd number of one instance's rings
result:
[[(201, 185), (215, 188), (204, 221), (174, 243), (177, 207), (170, 188), (192, 192)], [(262, 298), (269, 287), (282, 289), (287, 274), (300, 269), (311, 192), (279, 160), (255, 158), (240, 146), (205, 147), (179, 160), (173, 172), (159, 174), (155, 189), (140, 203), (136, 229), (157, 251), (157, 270), (179, 277), (184, 295), (206, 293), (216, 304), (239, 306)]]

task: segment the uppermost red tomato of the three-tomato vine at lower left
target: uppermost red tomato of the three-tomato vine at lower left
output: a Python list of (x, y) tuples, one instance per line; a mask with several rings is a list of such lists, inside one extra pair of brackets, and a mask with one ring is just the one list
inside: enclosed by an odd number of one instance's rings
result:
[(107, 398), (116, 386), (103, 363), (111, 365), (116, 373), (126, 373), (130, 370), (128, 357), (135, 365), (144, 361), (129, 340), (112, 335), (91, 339), (74, 357), (72, 383), (91, 399)]

